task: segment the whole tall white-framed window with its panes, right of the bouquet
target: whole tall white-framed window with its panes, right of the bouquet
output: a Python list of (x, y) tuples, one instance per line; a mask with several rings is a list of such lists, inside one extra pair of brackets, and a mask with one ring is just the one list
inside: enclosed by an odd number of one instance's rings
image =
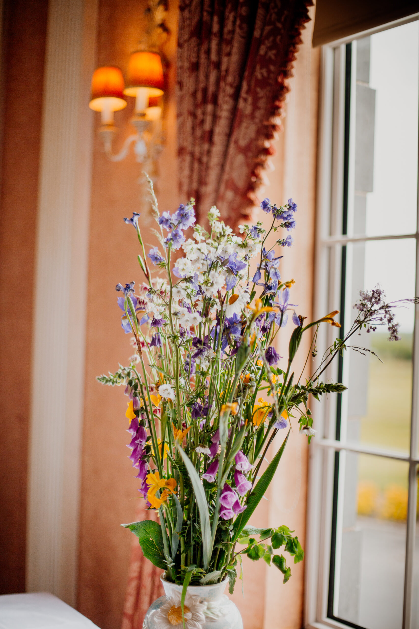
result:
[[(419, 294), (418, 118), (418, 16), (322, 48), (315, 311), (342, 335), (361, 289)], [(327, 374), (347, 391), (313, 410), (306, 626), (419, 629), (415, 307), (396, 319), (400, 342), (352, 337)]]

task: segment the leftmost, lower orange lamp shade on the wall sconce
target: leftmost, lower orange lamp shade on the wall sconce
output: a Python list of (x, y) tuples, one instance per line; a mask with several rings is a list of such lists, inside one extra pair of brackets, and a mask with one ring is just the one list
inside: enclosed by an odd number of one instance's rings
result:
[[(102, 111), (105, 106), (111, 111), (118, 111), (127, 106), (124, 99), (124, 77), (119, 68), (105, 65), (97, 68), (92, 76), (92, 99), (89, 107)], [(106, 99), (106, 101), (105, 101)]]

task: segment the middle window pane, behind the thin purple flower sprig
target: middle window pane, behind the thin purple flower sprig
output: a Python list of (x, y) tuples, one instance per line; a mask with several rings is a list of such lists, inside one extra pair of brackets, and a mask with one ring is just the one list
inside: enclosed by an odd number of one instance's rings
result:
[[(351, 306), (360, 289), (377, 284), (386, 292), (387, 301), (413, 298), (415, 295), (415, 255), (413, 239), (371, 241), (348, 247), (346, 329), (355, 318)], [(347, 383), (347, 440), (392, 450), (408, 452), (412, 387), (412, 342), (414, 308), (411, 304), (395, 309), (400, 323), (401, 340), (388, 341), (386, 326), (375, 332), (355, 335), (344, 369)], [(366, 350), (375, 352), (378, 357)], [(344, 415), (343, 415), (344, 417)]]

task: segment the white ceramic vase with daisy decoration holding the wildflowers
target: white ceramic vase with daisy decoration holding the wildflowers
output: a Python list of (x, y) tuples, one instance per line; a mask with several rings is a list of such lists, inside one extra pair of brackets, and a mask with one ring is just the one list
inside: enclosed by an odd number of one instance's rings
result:
[[(146, 613), (143, 629), (182, 629), (182, 586), (161, 577), (166, 596), (160, 596)], [(187, 629), (243, 629), (236, 605), (224, 594), (228, 579), (211, 586), (189, 586), (185, 598)]]

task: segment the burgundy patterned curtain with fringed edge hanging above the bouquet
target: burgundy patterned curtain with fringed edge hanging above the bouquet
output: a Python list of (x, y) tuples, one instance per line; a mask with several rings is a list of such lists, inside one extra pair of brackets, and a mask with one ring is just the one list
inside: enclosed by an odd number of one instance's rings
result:
[(180, 0), (178, 172), (198, 220), (258, 203), (312, 0)]

